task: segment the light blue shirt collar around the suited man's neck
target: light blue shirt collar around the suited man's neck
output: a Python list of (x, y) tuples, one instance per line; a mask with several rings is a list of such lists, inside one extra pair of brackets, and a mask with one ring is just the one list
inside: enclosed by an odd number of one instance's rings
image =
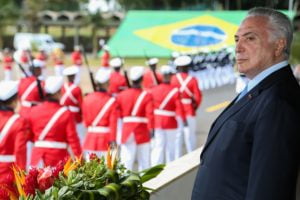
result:
[(250, 91), (252, 88), (254, 88), (256, 85), (258, 85), (263, 79), (265, 79), (267, 76), (272, 74), (273, 72), (285, 67), (288, 65), (288, 61), (282, 61), (280, 63), (277, 63), (271, 67), (268, 67), (264, 71), (260, 72), (258, 75), (256, 75), (252, 80), (249, 80), (247, 84), (247, 92)]

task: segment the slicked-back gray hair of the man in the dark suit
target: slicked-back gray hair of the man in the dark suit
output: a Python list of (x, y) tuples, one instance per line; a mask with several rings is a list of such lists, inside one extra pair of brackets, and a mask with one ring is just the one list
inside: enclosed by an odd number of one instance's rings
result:
[(247, 17), (251, 16), (265, 16), (269, 19), (271, 25), (271, 38), (286, 39), (286, 47), (284, 53), (288, 58), (291, 52), (291, 44), (293, 41), (293, 27), (290, 19), (282, 12), (276, 11), (271, 8), (256, 7), (248, 11)]

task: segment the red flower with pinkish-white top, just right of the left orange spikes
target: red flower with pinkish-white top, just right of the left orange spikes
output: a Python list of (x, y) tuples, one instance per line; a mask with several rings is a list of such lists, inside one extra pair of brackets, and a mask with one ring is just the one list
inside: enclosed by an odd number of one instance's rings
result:
[(44, 192), (54, 183), (54, 177), (50, 166), (42, 169), (37, 177), (39, 190)]

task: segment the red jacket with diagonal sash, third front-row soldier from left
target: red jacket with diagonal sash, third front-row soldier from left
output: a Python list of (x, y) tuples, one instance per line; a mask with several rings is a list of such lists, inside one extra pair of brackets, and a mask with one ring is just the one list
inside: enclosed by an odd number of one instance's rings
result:
[(107, 92), (93, 92), (83, 99), (83, 122), (87, 134), (84, 150), (107, 151), (109, 142), (116, 140), (117, 102)]

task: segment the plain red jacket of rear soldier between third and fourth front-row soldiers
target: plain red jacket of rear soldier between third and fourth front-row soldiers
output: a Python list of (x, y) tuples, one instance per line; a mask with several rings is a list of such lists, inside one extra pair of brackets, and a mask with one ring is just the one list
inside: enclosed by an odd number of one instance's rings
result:
[(108, 87), (108, 92), (110, 94), (118, 94), (127, 87), (126, 79), (123, 74), (116, 71), (111, 73)]

